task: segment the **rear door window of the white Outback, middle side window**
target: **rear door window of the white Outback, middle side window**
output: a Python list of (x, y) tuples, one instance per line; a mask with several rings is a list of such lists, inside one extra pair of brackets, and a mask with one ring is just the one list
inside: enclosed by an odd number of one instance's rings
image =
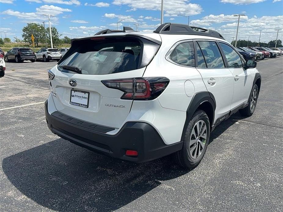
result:
[(224, 61), (214, 41), (198, 41), (201, 52), (205, 57), (207, 68), (224, 68)]

